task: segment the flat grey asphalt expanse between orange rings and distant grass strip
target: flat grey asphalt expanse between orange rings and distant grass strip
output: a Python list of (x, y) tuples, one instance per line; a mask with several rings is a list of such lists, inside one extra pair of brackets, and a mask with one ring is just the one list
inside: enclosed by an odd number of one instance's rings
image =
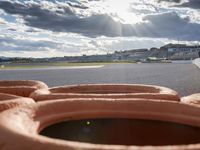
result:
[(0, 80), (41, 80), (48, 86), (135, 83), (166, 86), (189, 95), (200, 92), (200, 69), (191, 63), (116, 64), (101, 68), (0, 70)]

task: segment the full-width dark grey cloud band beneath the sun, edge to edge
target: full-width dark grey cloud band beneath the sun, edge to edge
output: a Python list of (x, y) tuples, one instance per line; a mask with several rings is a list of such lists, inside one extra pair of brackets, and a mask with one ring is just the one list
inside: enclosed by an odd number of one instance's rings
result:
[[(55, 4), (56, 5), (56, 4)], [(78, 33), (88, 37), (155, 37), (182, 40), (199, 40), (200, 24), (191, 23), (188, 18), (181, 18), (177, 13), (148, 15), (138, 24), (123, 24), (107, 14), (79, 16), (65, 6), (65, 13), (50, 11), (39, 4), (13, 3), (1, 1), (0, 8), (9, 14), (20, 15), (26, 25), (40, 29)], [(71, 11), (70, 11), (71, 10)]]

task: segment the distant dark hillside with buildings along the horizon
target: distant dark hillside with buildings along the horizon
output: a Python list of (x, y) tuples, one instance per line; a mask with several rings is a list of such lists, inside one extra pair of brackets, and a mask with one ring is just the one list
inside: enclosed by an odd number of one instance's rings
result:
[(52, 58), (9, 58), (0, 57), (0, 64), (48, 63), (48, 62), (160, 62), (171, 60), (192, 60), (200, 56), (199, 45), (167, 44), (160, 48), (131, 49), (115, 51), (105, 55), (63, 56)]

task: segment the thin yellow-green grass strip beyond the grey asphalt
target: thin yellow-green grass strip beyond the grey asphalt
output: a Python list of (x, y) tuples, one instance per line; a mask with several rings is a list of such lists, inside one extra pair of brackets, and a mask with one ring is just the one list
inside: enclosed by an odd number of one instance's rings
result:
[(104, 66), (110, 64), (124, 64), (135, 62), (84, 62), (84, 63), (68, 63), (68, 62), (56, 62), (56, 63), (11, 63), (0, 65), (0, 69), (34, 69), (34, 68), (51, 68), (51, 67), (81, 67), (81, 66)]

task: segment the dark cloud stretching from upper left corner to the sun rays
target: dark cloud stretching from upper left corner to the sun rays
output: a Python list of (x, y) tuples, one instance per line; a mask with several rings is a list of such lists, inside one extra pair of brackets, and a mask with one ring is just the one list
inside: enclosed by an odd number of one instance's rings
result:
[[(131, 25), (116, 22), (106, 14), (91, 14), (80, 17), (65, 7), (65, 14), (43, 9), (40, 5), (19, 4), (10, 1), (1, 1), (0, 8), (9, 14), (23, 16), (26, 24), (32, 27), (47, 29), (57, 32), (79, 33), (85, 36), (129, 36)], [(62, 14), (62, 15), (61, 15)]]

